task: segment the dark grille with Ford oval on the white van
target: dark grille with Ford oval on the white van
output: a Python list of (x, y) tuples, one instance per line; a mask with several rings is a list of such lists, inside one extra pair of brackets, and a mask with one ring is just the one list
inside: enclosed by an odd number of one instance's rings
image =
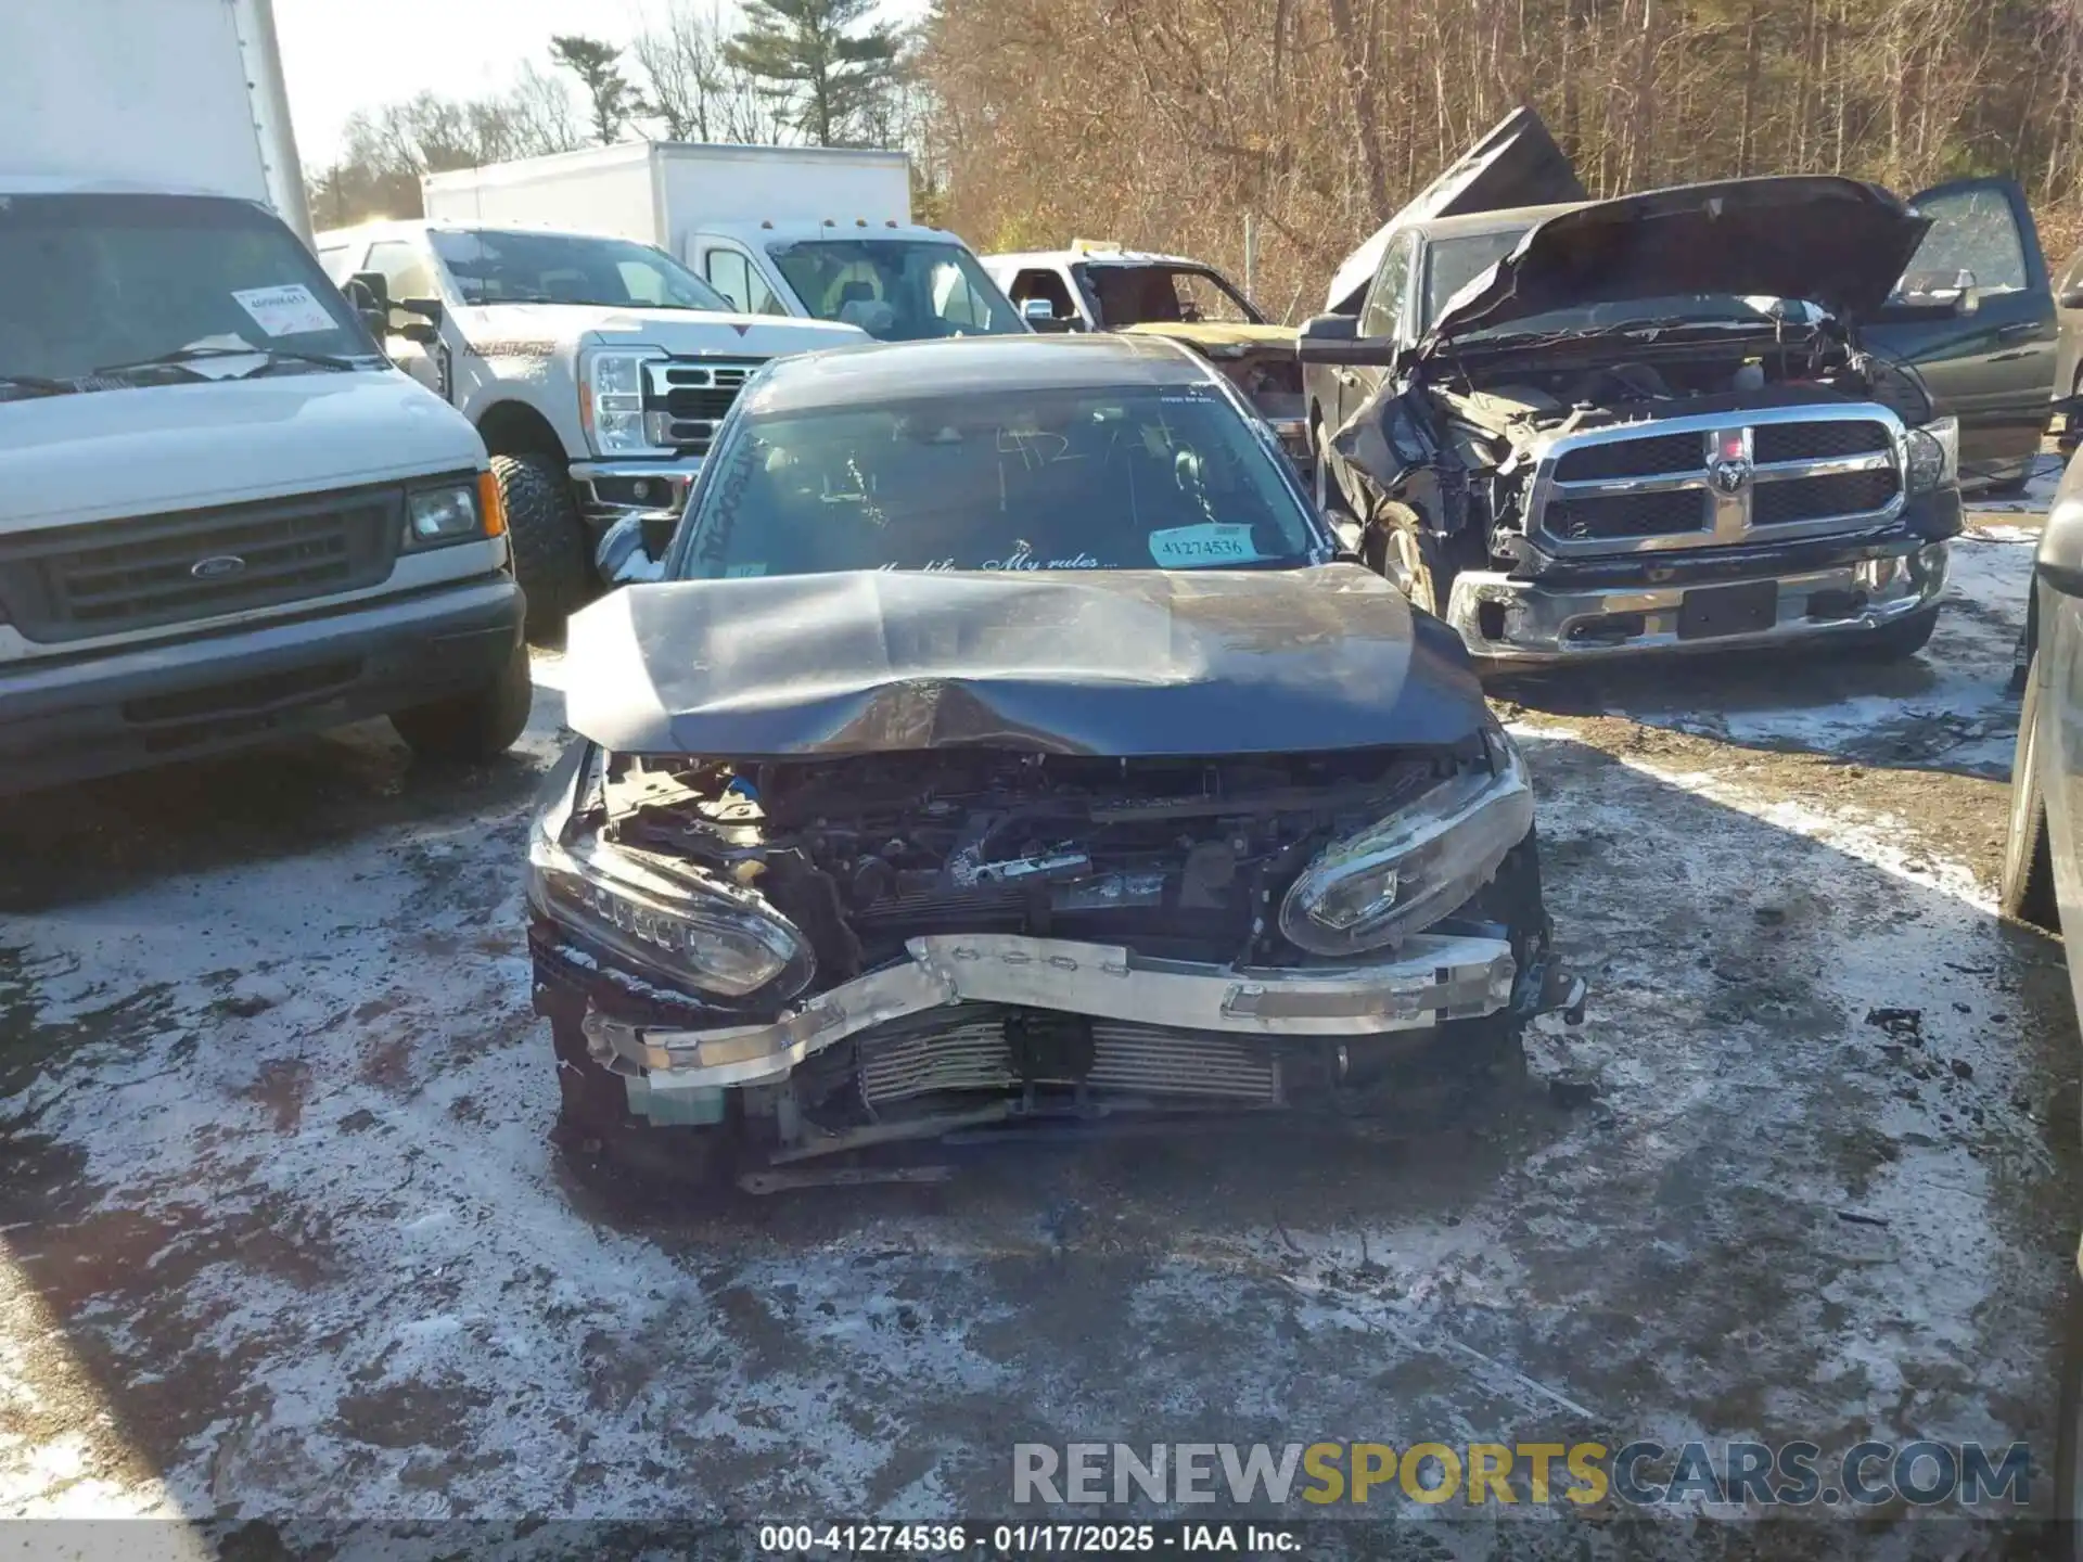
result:
[(354, 489), (0, 537), (0, 606), (44, 644), (119, 635), (377, 585), (398, 489)]

